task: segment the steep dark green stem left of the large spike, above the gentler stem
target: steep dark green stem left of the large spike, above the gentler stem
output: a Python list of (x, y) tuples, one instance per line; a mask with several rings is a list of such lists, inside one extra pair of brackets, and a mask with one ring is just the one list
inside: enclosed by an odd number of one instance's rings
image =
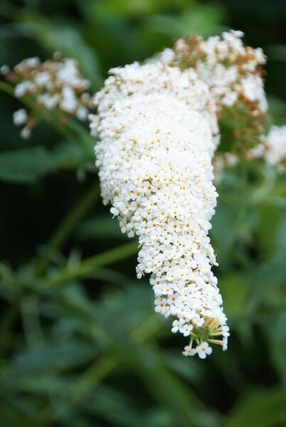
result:
[(43, 254), (43, 257), (38, 260), (36, 265), (36, 273), (40, 275), (48, 266), (48, 262), (54, 251), (62, 248), (65, 241), (70, 236), (75, 226), (85, 216), (85, 214), (92, 208), (95, 201), (100, 195), (98, 184), (92, 185), (83, 198), (75, 204), (74, 208), (68, 213), (59, 226), (55, 229), (53, 235), (48, 241), (48, 248)]

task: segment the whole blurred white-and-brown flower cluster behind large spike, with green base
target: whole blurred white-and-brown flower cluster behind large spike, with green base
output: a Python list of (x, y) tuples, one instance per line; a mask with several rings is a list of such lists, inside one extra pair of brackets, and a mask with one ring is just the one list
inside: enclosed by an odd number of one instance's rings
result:
[(245, 153), (264, 132), (268, 103), (262, 78), (265, 56), (260, 48), (243, 46), (242, 37), (241, 31), (230, 31), (206, 41), (181, 38), (159, 60), (196, 70), (208, 85), (220, 123), (228, 127), (234, 122), (233, 137), (240, 142), (238, 151)]

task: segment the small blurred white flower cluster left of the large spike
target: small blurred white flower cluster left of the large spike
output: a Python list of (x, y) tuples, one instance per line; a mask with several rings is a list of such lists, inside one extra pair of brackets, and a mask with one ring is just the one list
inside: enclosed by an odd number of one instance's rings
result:
[[(91, 98), (87, 92), (90, 83), (78, 70), (74, 59), (60, 60), (55, 54), (53, 60), (41, 63), (39, 58), (28, 58), (10, 70), (4, 65), (1, 73), (9, 83), (15, 85), (16, 97), (26, 96), (36, 102), (38, 109), (58, 110), (86, 120)], [(35, 125), (33, 113), (21, 108), (14, 112), (14, 124), (25, 125), (21, 131), (28, 138)]]

